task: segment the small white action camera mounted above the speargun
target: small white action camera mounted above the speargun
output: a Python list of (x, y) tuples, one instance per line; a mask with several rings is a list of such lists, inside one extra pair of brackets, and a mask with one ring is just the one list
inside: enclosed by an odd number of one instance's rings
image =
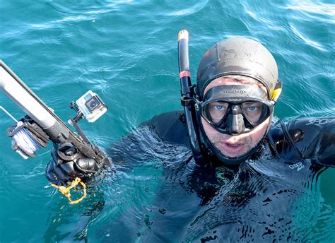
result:
[(83, 113), (83, 117), (85, 117), (88, 122), (96, 121), (107, 111), (107, 105), (91, 90), (88, 90), (85, 95), (76, 101), (76, 106), (78, 107), (78, 111)]

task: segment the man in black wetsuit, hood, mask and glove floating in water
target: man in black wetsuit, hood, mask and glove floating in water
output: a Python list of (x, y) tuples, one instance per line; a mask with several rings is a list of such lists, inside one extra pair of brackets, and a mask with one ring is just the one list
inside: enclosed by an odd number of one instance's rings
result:
[[(174, 166), (184, 173), (180, 180), (199, 199), (184, 199), (185, 206), (194, 208), (194, 215), (182, 218), (181, 227), (164, 225), (169, 215), (158, 213), (148, 239), (165, 241), (169, 235), (185, 242), (223, 241), (227, 235), (238, 235), (240, 240), (299, 239), (292, 230), (286, 232), (294, 215), (285, 212), (293, 208), (293, 198), (306, 184), (335, 166), (335, 117), (272, 121), (280, 91), (276, 61), (261, 43), (245, 37), (223, 40), (204, 54), (196, 74), (192, 129), (201, 156), (192, 158), (188, 121), (182, 111), (153, 117), (110, 148), (116, 169), (127, 155), (144, 153), (143, 144), (151, 139), (180, 146), (191, 155)], [(93, 159), (59, 160), (52, 150), (45, 172), (52, 183), (71, 182), (76, 177), (90, 179), (104, 170)], [(130, 168), (141, 160), (125, 163)], [(172, 186), (168, 180), (165, 184)], [(177, 198), (182, 195), (167, 198), (169, 195), (159, 194), (157, 201), (182, 212), (183, 208), (167, 203), (173, 204), (173, 198), (180, 201)], [(166, 238), (155, 235), (154, 227), (160, 232), (165, 227)]]

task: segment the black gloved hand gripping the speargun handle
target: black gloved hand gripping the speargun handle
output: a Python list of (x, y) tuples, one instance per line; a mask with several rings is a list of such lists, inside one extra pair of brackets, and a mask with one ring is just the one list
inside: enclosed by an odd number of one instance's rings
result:
[(52, 149), (52, 160), (50, 160), (45, 170), (47, 179), (53, 184), (72, 182), (76, 177), (86, 181), (103, 167), (96, 160), (84, 157), (74, 146), (63, 146), (62, 149), (62, 152), (69, 155), (69, 158), (73, 158), (73, 160), (59, 158), (57, 149), (59, 150), (58, 146), (54, 146)]

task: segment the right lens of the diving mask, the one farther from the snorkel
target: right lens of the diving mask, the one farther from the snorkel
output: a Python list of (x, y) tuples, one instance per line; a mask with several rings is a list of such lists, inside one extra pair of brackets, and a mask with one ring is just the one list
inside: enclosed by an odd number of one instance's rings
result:
[(244, 102), (241, 104), (243, 115), (252, 125), (257, 125), (269, 117), (270, 110), (262, 102)]

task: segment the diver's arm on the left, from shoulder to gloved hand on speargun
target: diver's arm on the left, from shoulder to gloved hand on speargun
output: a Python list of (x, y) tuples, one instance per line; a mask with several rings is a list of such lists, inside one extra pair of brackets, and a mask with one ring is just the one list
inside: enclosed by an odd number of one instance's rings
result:
[[(112, 159), (114, 169), (129, 171), (136, 164), (141, 164), (143, 160), (151, 159), (148, 150), (158, 150), (156, 152), (160, 154), (170, 143), (189, 146), (186, 124), (180, 111), (163, 113), (143, 122), (127, 136), (124, 136), (121, 141), (108, 148), (107, 154)], [(76, 150), (71, 147), (65, 151), (69, 154), (75, 152)], [(149, 157), (147, 158), (147, 156)], [(72, 182), (76, 177), (90, 179), (105, 168), (104, 165), (88, 158), (64, 162), (57, 155), (56, 145), (52, 150), (52, 160), (47, 165), (45, 174), (50, 182), (64, 184)]]

